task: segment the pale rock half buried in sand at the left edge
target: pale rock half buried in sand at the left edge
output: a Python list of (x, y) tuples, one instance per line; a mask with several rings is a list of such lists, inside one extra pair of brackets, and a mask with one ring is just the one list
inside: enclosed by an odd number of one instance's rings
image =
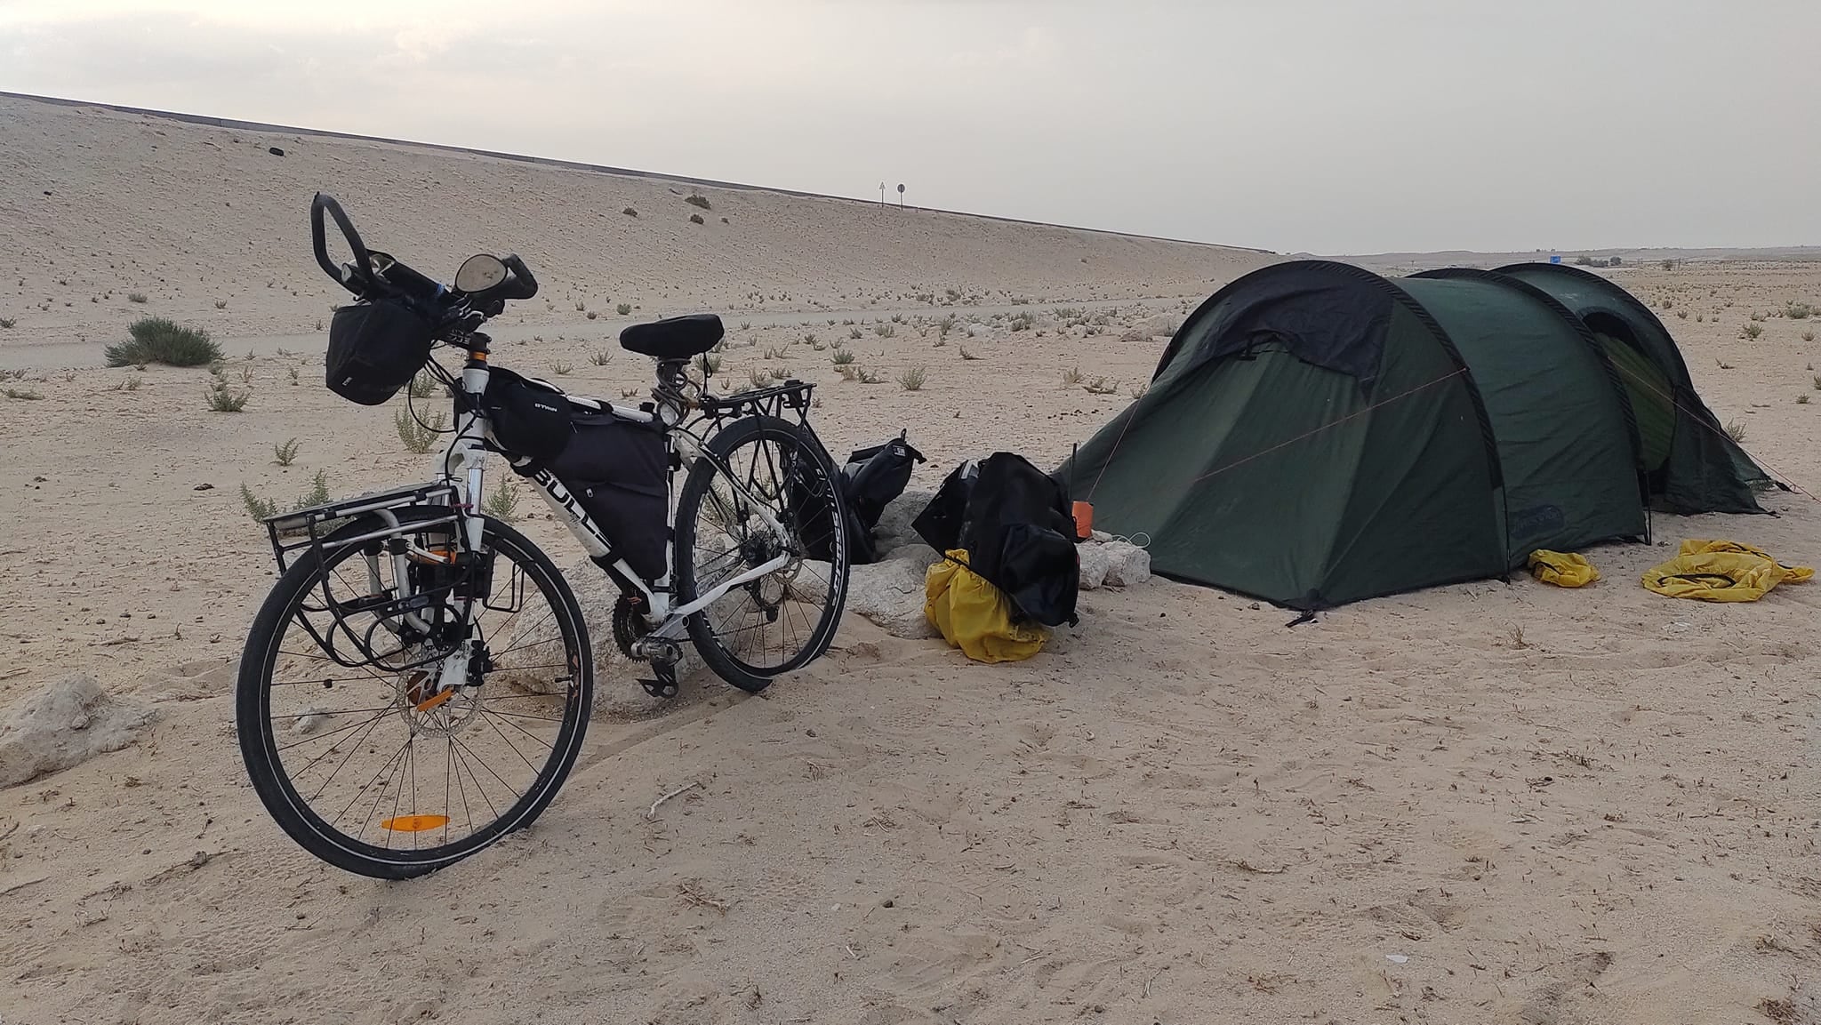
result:
[(151, 708), (113, 697), (95, 677), (46, 685), (0, 721), (0, 787), (15, 787), (133, 743)]

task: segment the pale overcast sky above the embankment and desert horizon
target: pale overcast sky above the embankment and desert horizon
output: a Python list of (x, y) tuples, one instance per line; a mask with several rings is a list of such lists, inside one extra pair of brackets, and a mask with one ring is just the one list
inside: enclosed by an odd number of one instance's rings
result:
[(0, 0), (0, 89), (1278, 251), (1794, 246), (1817, 38), (1816, 0)]

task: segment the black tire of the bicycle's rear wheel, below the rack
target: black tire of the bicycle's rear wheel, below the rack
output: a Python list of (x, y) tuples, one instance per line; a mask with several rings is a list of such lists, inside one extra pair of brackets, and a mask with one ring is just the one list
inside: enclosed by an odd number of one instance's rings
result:
[[(803, 472), (805, 493), (814, 493), (819, 502), (816, 512), (830, 526), (827, 537), (818, 539), (818, 544), (825, 546), (829, 559), (827, 572), (827, 603), (816, 623), (807, 632), (807, 637), (796, 648), (794, 654), (785, 655), (776, 665), (756, 665), (741, 659), (723, 643), (721, 632), (714, 623), (710, 623), (710, 610), (717, 604), (728, 601), (727, 595), (716, 604), (696, 612), (687, 621), (687, 630), (696, 650), (701, 654), (703, 663), (714, 670), (723, 681), (745, 690), (748, 694), (758, 694), (765, 690), (770, 681), (787, 672), (798, 670), (810, 661), (821, 657), (829, 644), (834, 641), (834, 634), (839, 628), (841, 610), (847, 603), (847, 577), (849, 577), (849, 544), (847, 533), (841, 528), (847, 519), (847, 504), (841, 497), (841, 488), (838, 482), (836, 468), (829, 461), (827, 452), (821, 442), (809, 433), (805, 428), (792, 424), (778, 417), (752, 415), (734, 421), (721, 431), (717, 431), (707, 444), (707, 459), (697, 459), (690, 468), (688, 477), (683, 481), (683, 492), (677, 499), (677, 521), (676, 521), (676, 577), (677, 577), (677, 599), (687, 604), (696, 601), (699, 594), (701, 581), (697, 579), (697, 561), (696, 561), (696, 543), (697, 543), (697, 513), (701, 510), (703, 499), (708, 495), (708, 488), (723, 468), (734, 470), (734, 453), (743, 446), (754, 442), (779, 442), (785, 452), (794, 452), (799, 462), (792, 464), (792, 472)], [(788, 501), (788, 499), (779, 499)], [(803, 510), (796, 510), (803, 513)], [(818, 521), (818, 523), (821, 523)], [(801, 517), (798, 519), (801, 523)], [(805, 539), (801, 530), (792, 530), (794, 553), (798, 555), (798, 572), (801, 572), (805, 553)], [(816, 559), (816, 563), (823, 563)], [(761, 577), (754, 581), (759, 584), (770, 577)], [(754, 584), (743, 584), (745, 588), (754, 588)], [(788, 583), (783, 586), (790, 586)], [(728, 592), (730, 595), (734, 592)], [(779, 597), (778, 604), (785, 604), (785, 597)]]

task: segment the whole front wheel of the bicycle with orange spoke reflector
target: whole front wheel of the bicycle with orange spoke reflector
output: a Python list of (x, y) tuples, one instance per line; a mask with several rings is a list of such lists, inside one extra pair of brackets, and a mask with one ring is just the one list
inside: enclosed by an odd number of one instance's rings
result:
[[(404, 537), (448, 550), (448, 530)], [(402, 879), (468, 858), (530, 825), (581, 750), (594, 668), (574, 594), (503, 523), (486, 521), (479, 559), (477, 577), (408, 561), (422, 597), (406, 612), (382, 541), (310, 550), (253, 621), (240, 756), (279, 827), (339, 868)], [(477, 603), (466, 630), (463, 601)], [(463, 650), (466, 686), (439, 690)]]

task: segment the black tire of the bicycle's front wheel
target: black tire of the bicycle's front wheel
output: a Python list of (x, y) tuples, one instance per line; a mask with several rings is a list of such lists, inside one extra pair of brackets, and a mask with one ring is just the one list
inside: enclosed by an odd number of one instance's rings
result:
[[(401, 521), (410, 521), (424, 519), (443, 510), (404, 508), (395, 512)], [(361, 532), (375, 530), (377, 526), (377, 519), (362, 517), (342, 526), (331, 537), (351, 537)], [(235, 725), (240, 741), (240, 757), (246, 763), (255, 794), (259, 794), (266, 810), (279, 823), (279, 827), (304, 850), (322, 861), (328, 861), (330, 865), (335, 865), (337, 868), (377, 879), (408, 879), (453, 865), (455, 861), (484, 850), (506, 834), (521, 830), (537, 819), (537, 816), (555, 797), (575, 763), (583, 736), (588, 728), (588, 710), (594, 699), (592, 648), (588, 646), (588, 628), (583, 619), (581, 606), (550, 557), (523, 533), (504, 523), (486, 517), (483, 539), (484, 550), (492, 552), (495, 559), (510, 559), (512, 564), (523, 570), (528, 581), (534, 583), (548, 601), (552, 614), (557, 617), (559, 641), (566, 648), (565, 663), (568, 663), (570, 668), (570, 681), (566, 695), (561, 699), (563, 719), (557, 728), (557, 737), (550, 745), (550, 756), (537, 770), (534, 783), (490, 825), (473, 830), (461, 841), (410, 850), (364, 843), (362, 839), (353, 837), (324, 821), (310, 801), (300, 797), (291, 777), (286, 774), (284, 759), (280, 757), (284, 748), (273, 734), (273, 719), (270, 714), (273, 666), (277, 665), (280, 654), (279, 648), (288, 635), (286, 626), (304, 606), (304, 601), (317, 594), (319, 583), (326, 579), (326, 573), (331, 573), (341, 563), (353, 557), (359, 548), (348, 546), (331, 553), (328, 564), (322, 559), (320, 548), (302, 553), (290, 566), (290, 570), (279, 577), (279, 583), (271, 588), (271, 594), (266, 597), (266, 603), (260, 606), (259, 615), (253, 621), (246, 650), (240, 657), (240, 675), (235, 694)], [(497, 566), (493, 573), (497, 581)], [(370, 675), (373, 675), (371, 670)], [(479, 701), (481, 699), (475, 703)], [(362, 708), (359, 712), (366, 710)], [(375, 715), (375, 719), (379, 719), (379, 715)], [(481, 719), (484, 721), (484, 715)], [(499, 726), (495, 725), (495, 730)], [(415, 737), (417, 734), (413, 730), (408, 745), (413, 743)], [(341, 743), (342, 741), (337, 741), (337, 746)], [(361, 746), (361, 743), (353, 743), (353, 746)], [(453, 750), (457, 743), (452, 739), (450, 746)], [(470, 774), (473, 774), (473, 766), (470, 766)], [(459, 770), (455, 776), (459, 781)], [(479, 785), (481, 781), (477, 779), (475, 787)], [(381, 790), (381, 796), (384, 790)], [(444, 797), (448, 797), (448, 792), (444, 792)], [(453, 810), (453, 807), (446, 810)], [(417, 816), (413, 814), (412, 817), (415, 819)]]

